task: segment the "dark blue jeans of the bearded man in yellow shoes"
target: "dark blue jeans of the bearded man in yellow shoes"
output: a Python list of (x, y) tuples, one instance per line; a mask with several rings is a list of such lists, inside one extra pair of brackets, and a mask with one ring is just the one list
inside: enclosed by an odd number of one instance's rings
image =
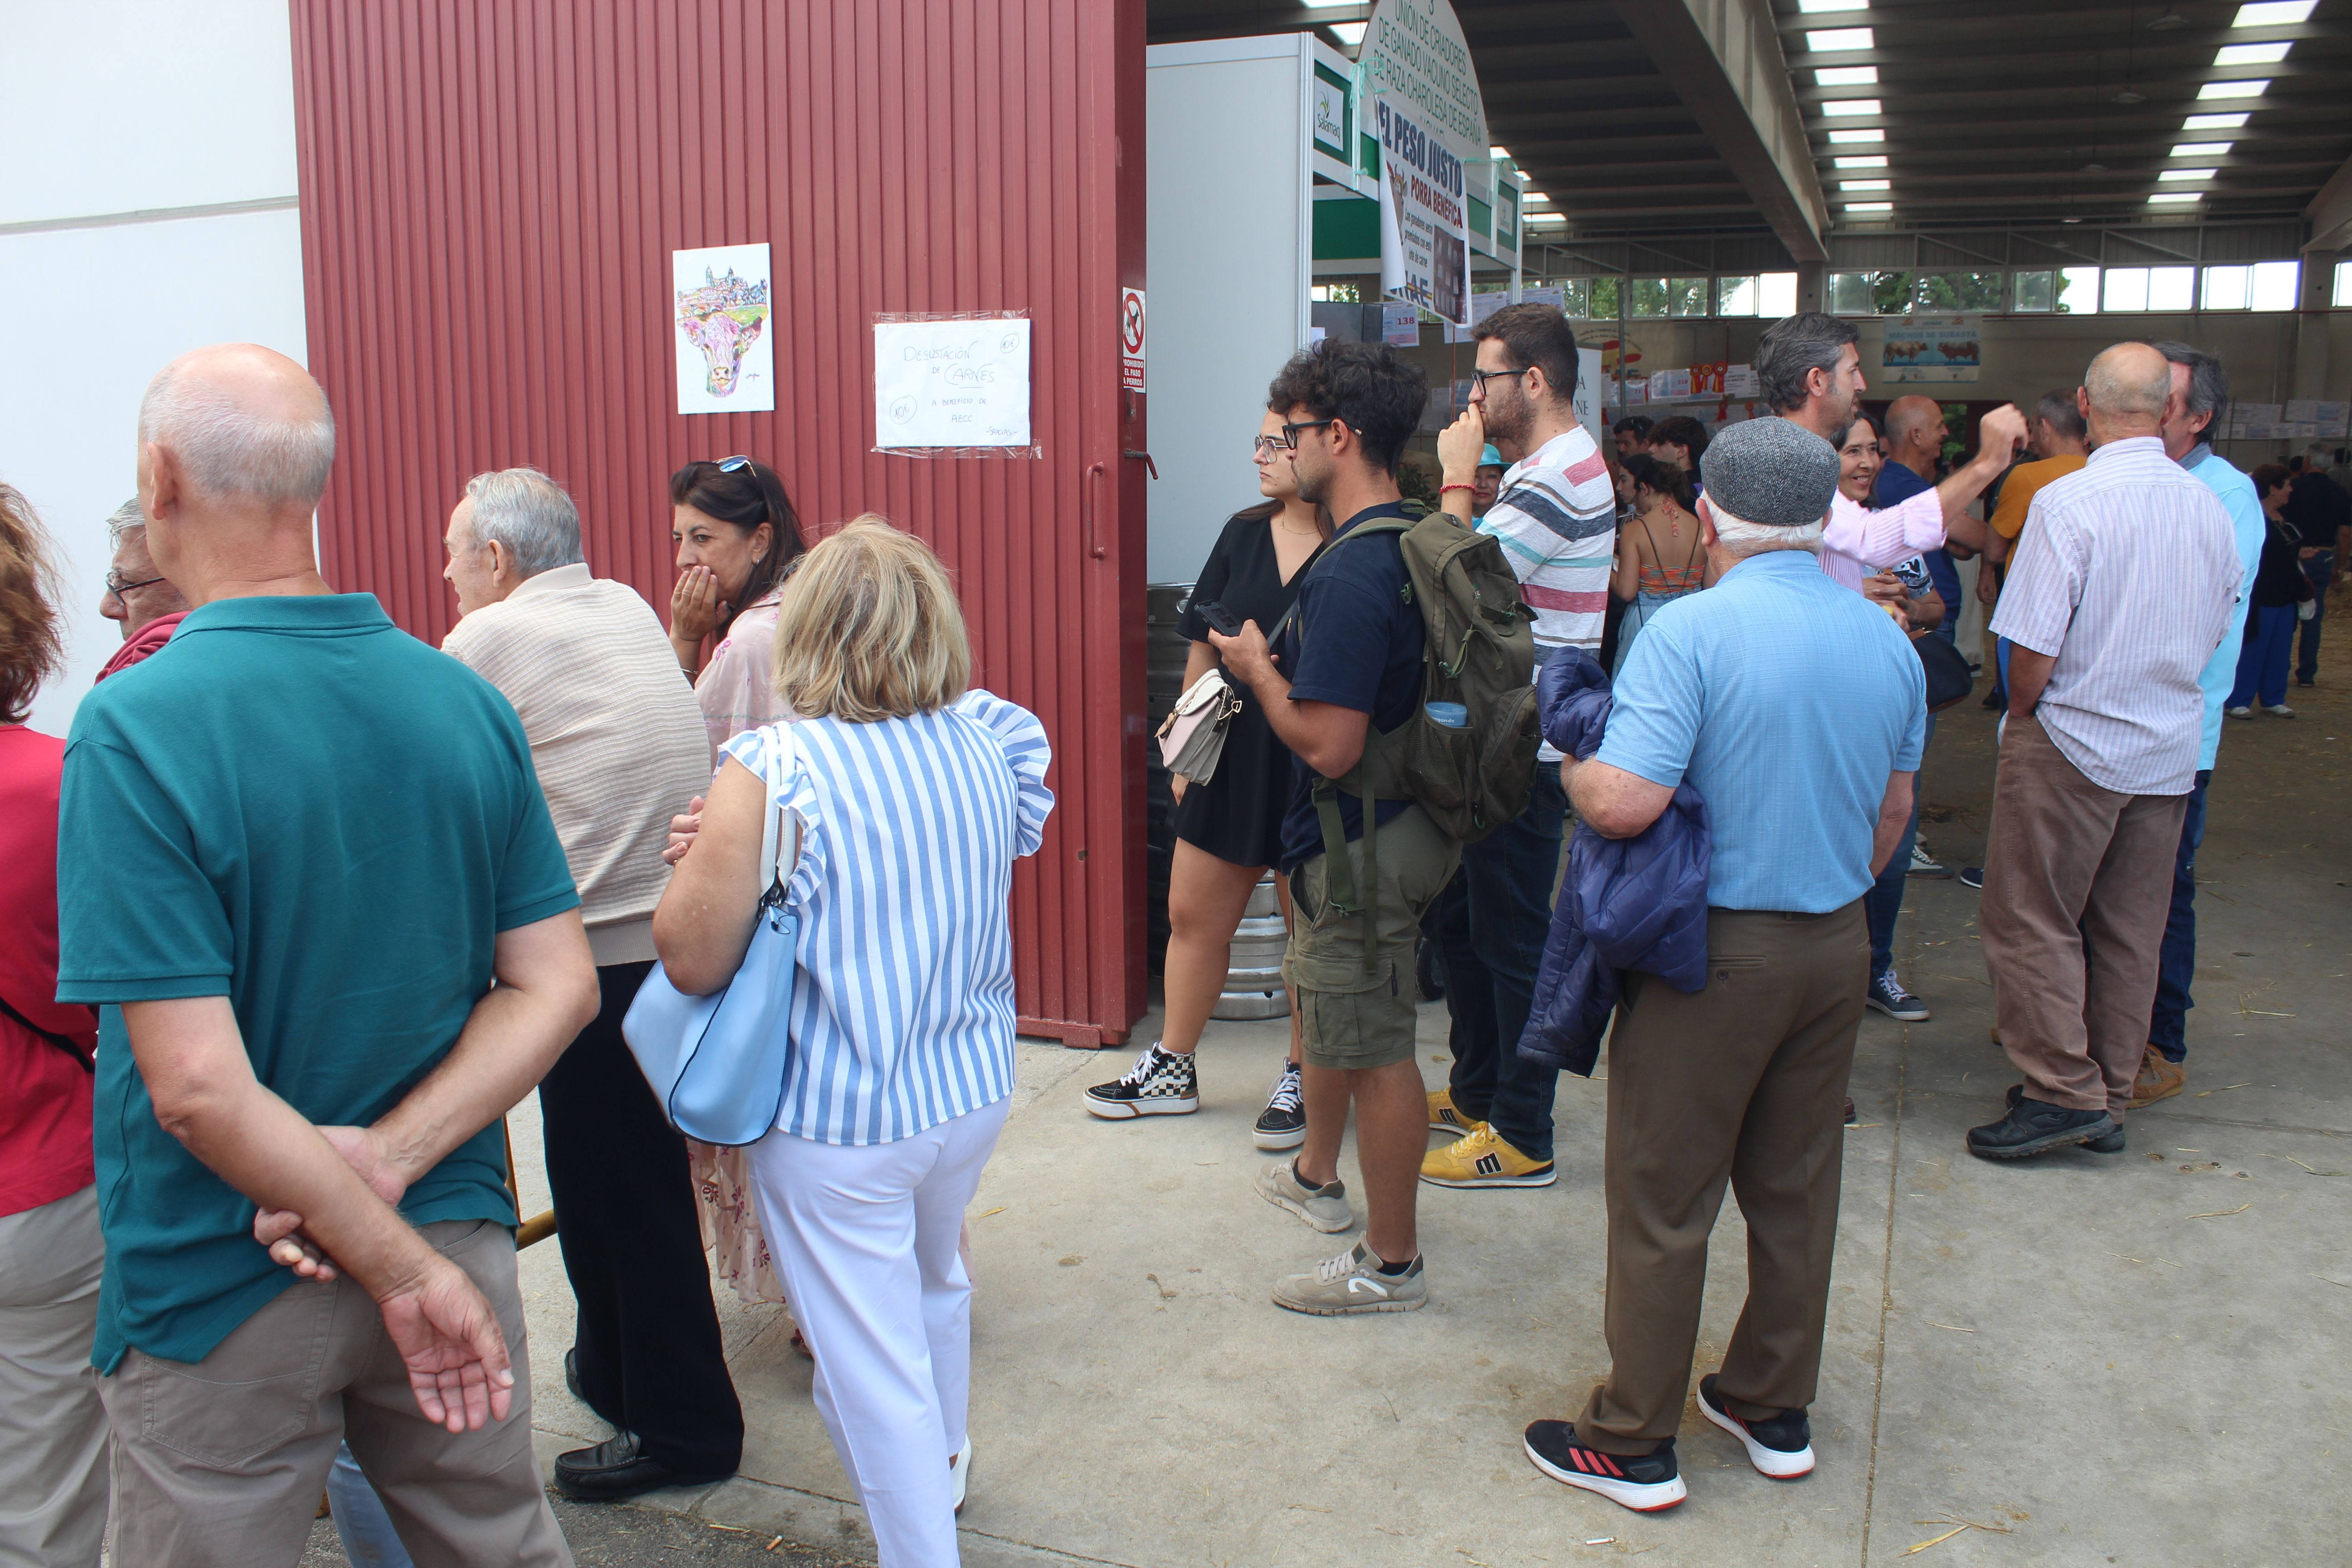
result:
[(1566, 816), (1559, 764), (1538, 762), (1526, 811), (1477, 844), (1463, 844), (1461, 877), (1430, 912), (1430, 936), (1446, 954), (1454, 1105), (1475, 1121), (1494, 1121), (1494, 1131), (1529, 1159), (1552, 1157), (1559, 1072), (1522, 1060), (1519, 1034), (1552, 929)]

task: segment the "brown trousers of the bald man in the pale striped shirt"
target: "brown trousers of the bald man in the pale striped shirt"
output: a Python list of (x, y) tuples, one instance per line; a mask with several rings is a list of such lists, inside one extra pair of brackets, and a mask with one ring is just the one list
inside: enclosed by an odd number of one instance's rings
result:
[(2034, 1100), (2124, 1119), (2187, 804), (2103, 790), (2039, 719), (2009, 717), (1978, 919), (2002, 1048)]

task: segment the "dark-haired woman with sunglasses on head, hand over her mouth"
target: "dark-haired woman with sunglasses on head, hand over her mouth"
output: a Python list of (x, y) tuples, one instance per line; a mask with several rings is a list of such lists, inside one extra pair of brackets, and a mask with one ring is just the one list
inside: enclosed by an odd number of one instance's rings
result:
[[(741, 456), (687, 463), (670, 475), (670, 538), (677, 543), (670, 646), (694, 682), (713, 750), (746, 729), (788, 724), (795, 715), (776, 696), (774, 677), (776, 611), (783, 578), (807, 545), (783, 480), (767, 463)], [(717, 637), (710, 663), (701, 663), (706, 637)], [(696, 795), (684, 820), (696, 820), (701, 809)], [(783, 1281), (753, 1213), (743, 1150), (687, 1138), (687, 1164), (717, 1276), (746, 1302), (783, 1302)]]

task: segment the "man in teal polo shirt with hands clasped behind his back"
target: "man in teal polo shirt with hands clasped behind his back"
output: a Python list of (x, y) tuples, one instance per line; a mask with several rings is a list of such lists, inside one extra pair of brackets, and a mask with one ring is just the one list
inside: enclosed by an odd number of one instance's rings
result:
[(66, 743), (113, 1556), (292, 1563), (348, 1436), (419, 1559), (569, 1563), (499, 1119), (595, 1016), (595, 969), (515, 710), (320, 578), (332, 461), (282, 355), (155, 376), (139, 501), (195, 609)]

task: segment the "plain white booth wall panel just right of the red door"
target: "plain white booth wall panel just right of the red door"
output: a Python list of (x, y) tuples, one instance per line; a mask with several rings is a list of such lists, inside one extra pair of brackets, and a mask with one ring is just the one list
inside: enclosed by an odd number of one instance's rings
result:
[(1265, 383), (1308, 329), (1305, 33), (1145, 52), (1145, 571), (1190, 583), (1256, 505)]

